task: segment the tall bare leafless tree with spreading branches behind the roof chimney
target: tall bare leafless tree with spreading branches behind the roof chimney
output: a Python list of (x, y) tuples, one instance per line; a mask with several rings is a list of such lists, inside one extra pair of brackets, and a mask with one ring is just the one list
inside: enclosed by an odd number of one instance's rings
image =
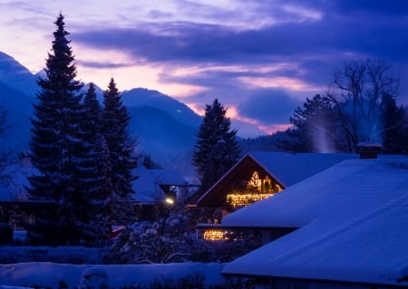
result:
[(327, 97), (338, 112), (345, 150), (354, 152), (361, 141), (382, 142), (387, 128), (381, 120), (381, 101), (385, 96), (398, 96), (399, 81), (399, 74), (383, 60), (345, 62), (335, 71)]

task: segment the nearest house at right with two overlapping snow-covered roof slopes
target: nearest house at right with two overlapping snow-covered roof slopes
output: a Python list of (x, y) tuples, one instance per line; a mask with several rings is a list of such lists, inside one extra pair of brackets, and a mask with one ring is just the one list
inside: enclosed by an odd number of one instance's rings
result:
[[(407, 206), (408, 158), (345, 160), (223, 218), (273, 242), (222, 274), (253, 277), (259, 288), (406, 287)], [(270, 237), (283, 228), (293, 230)]]

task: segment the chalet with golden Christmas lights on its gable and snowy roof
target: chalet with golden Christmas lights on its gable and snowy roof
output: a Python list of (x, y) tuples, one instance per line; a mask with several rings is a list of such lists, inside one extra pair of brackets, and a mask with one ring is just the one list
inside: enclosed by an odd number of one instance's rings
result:
[(357, 154), (249, 152), (199, 198), (198, 208), (218, 210), (218, 214), (213, 213), (215, 219), (204, 219), (197, 226), (199, 232), (206, 238), (209, 231), (220, 236), (218, 223), (230, 212), (273, 196), (345, 159), (358, 158)]

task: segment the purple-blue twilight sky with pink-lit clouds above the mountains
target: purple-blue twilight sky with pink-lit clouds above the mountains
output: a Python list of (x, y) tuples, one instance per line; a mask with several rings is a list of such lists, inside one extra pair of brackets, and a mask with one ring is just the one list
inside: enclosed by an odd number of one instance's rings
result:
[(199, 113), (218, 98), (268, 132), (349, 60), (391, 63), (408, 104), (405, 0), (3, 0), (0, 11), (0, 51), (31, 72), (62, 12), (83, 82), (106, 89), (113, 77), (121, 91), (155, 89)]

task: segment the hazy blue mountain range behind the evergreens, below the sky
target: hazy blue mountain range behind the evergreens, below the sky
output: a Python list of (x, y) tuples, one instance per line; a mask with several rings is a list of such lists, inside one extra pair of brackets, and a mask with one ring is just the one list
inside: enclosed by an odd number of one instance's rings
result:
[[(44, 77), (44, 71), (32, 74), (13, 57), (0, 53), (0, 105), (7, 109), (10, 124), (2, 142), (15, 151), (15, 156), (28, 149), (34, 95), (39, 90), (38, 77)], [(86, 90), (87, 85), (83, 92)], [(96, 87), (96, 91), (102, 101), (102, 89)], [(191, 152), (202, 117), (186, 104), (157, 91), (135, 88), (121, 95), (131, 114), (129, 129), (132, 137), (137, 139), (138, 152), (150, 155), (164, 169), (177, 169), (186, 177), (194, 176)], [(265, 134), (248, 123), (235, 120), (231, 121), (231, 127), (238, 129), (241, 137), (247, 137), (245, 131)]]

